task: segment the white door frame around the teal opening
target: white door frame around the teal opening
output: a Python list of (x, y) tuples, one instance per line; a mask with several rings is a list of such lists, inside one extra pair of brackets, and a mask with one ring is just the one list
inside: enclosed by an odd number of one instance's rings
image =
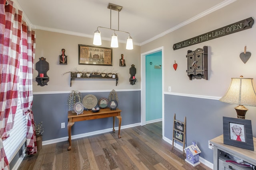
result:
[[(162, 127), (164, 127), (164, 47), (147, 51), (140, 54), (140, 123), (142, 126), (146, 125), (146, 55), (162, 51)], [(162, 136), (164, 137), (164, 128), (162, 128)]]

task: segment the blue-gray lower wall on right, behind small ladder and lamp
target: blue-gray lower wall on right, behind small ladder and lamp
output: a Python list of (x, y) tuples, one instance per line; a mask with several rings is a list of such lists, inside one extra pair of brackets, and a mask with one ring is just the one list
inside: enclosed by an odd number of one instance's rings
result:
[[(172, 140), (174, 113), (179, 121), (184, 121), (186, 116), (186, 147), (195, 141), (202, 151), (200, 157), (213, 163), (213, 150), (208, 149), (208, 141), (223, 134), (223, 116), (236, 118), (234, 107), (236, 105), (218, 100), (165, 94), (164, 136)], [(252, 120), (252, 129), (255, 129), (255, 107), (247, 108), (250, 112), (246, 113), (246, 119)], [(182, 146), (180, 142), (176, 144)]]

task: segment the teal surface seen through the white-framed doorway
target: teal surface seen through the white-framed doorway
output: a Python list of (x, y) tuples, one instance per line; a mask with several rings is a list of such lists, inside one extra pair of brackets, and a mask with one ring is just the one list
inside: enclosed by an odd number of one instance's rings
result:
[(146, 55), (146, 122), (162, 119), (162, 51)]

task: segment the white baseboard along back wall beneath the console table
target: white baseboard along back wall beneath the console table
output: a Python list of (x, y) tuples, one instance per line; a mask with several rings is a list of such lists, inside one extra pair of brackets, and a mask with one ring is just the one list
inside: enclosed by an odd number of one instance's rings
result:
[[(122, 126), (122, 129), (126, 129), (126, 128), (129, 128), (129, 127), (140, 126), (140, 125), (141, 125), (141, 123), (134, 123), (134, 124), (131, 124), (131, 125), (124, 125), (124, 126)], [(115, 127), (115, 129), (118, 130), (118, 127)], [(98, 134), (101, 134), (101, 133), (107, 133), (107, 132), (111, 132), (111, 131), (112, 131), (112, 128), (102, 129), (102, 130), (99, 130), (99, 131), (93, 131), (93, 132), (83, 133), (83, 134), (79, 134), (79, 135), (72, 135), (71, 139), (78, 139), (78, 138), (82, 138), (82, 137), (98, 135)], [(63, 142), (63, 141), (68, 141), (68, 136), (58, 138), (58, 139), (43, 141), (42, 145), (49, 145), (49, 144), (52, 144), (52, 143), (58, 143), (58, 142)]]

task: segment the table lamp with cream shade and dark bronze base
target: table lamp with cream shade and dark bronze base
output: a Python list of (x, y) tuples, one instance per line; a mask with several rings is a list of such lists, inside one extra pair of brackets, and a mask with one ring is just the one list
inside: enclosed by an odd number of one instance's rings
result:
[(231, 78), (231, 83), (226, 94), (220, 99), (221, 102), (238, 104), (236, 109), (237, 118), (245, 119), (246, 106), (256, 106), (256, 92), (252, 82), (253, 78)]

